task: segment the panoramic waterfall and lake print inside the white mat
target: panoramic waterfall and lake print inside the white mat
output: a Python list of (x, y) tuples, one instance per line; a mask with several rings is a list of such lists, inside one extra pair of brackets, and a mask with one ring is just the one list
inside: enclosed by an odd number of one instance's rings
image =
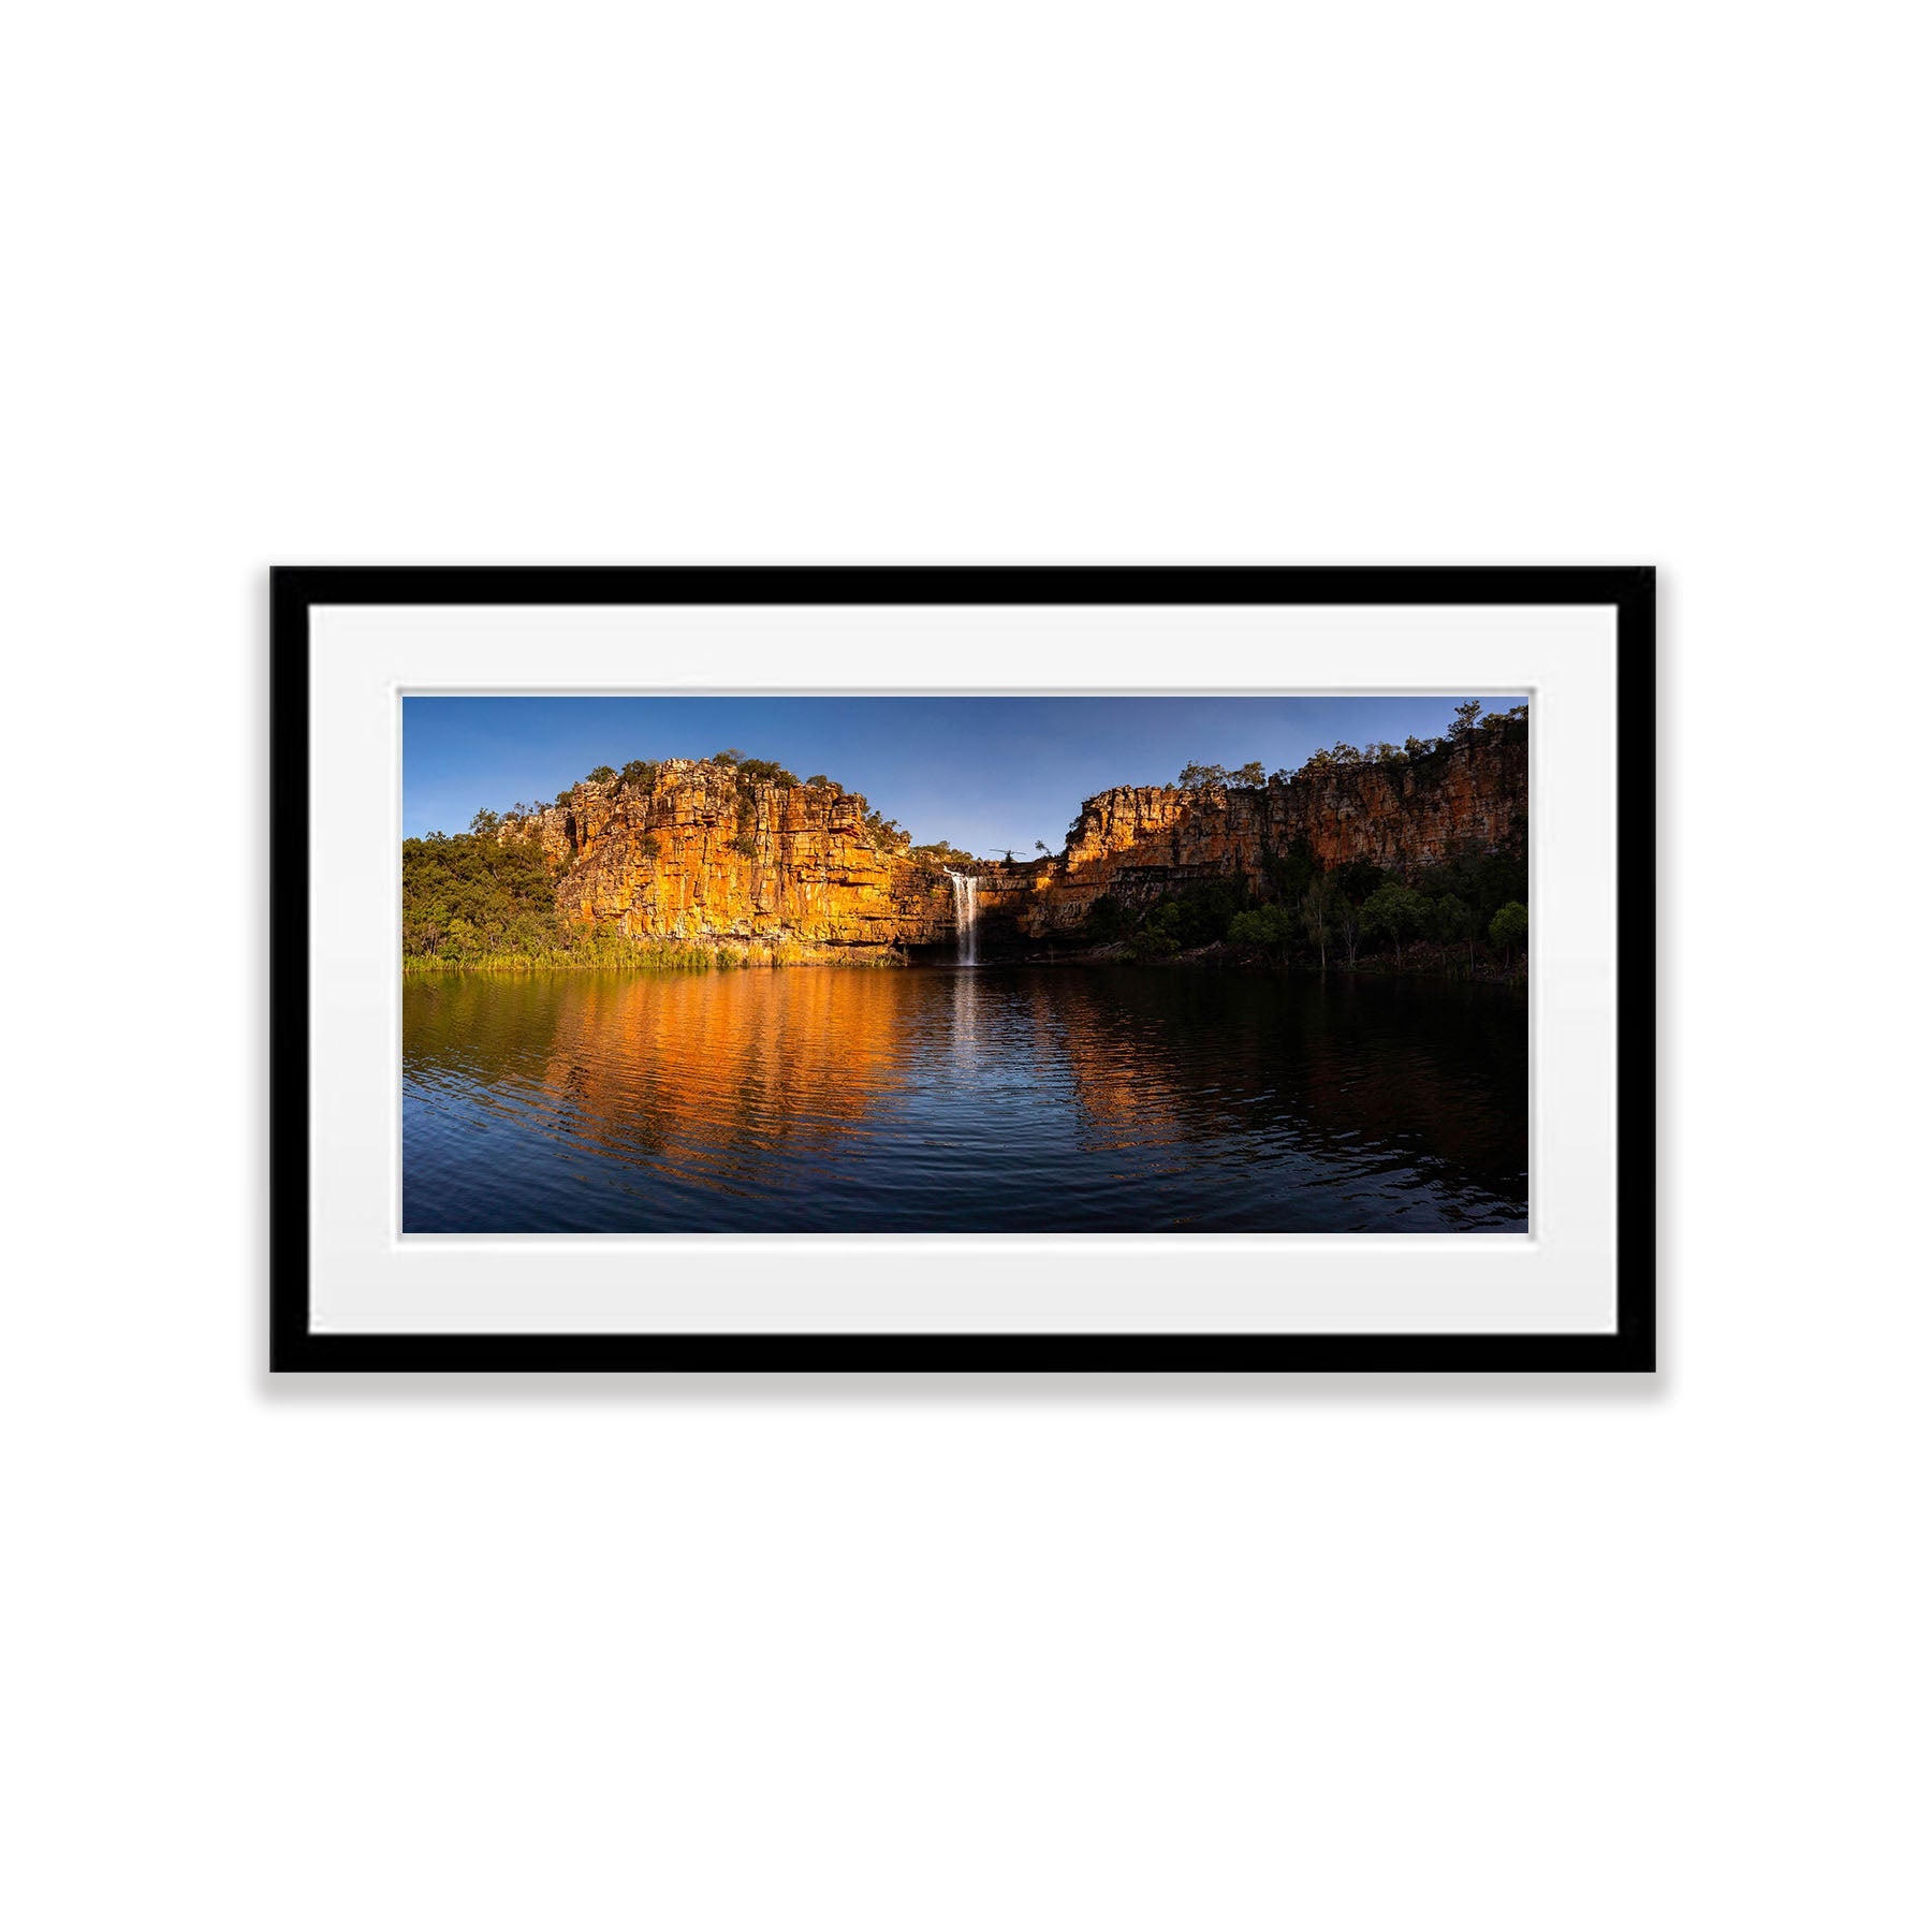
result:
[(402, 1233), (1526, 1233), (1534, 728), (408, 696)]

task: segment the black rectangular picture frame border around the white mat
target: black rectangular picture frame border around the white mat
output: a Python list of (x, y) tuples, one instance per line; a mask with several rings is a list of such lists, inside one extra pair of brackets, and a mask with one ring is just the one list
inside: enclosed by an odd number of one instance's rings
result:
[[(309, 1321), (309, 612), (317, 605), (1611, 605), (1617, 612), (1613, 1333), (315, 1333)], [(270, 572), (274, 1372), (1652, 1372), (1656, 1364), (1656, 570), (323, 568)]]

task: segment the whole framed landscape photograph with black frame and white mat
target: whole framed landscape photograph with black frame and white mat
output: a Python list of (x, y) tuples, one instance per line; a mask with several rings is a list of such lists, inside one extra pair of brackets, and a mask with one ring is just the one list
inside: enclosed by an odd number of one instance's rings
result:
[(1656, 582), (272, 574), (276, 1370), (1652, 1370)]

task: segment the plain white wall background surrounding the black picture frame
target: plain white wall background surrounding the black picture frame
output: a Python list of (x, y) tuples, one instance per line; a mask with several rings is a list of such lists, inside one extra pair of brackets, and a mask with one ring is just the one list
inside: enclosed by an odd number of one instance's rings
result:
[[(1926, 15), (19, 12), (21, 1926), (1905, 1926)], [(263, 1376), (265, 566), (1656, 560), (1654, 1387)]]

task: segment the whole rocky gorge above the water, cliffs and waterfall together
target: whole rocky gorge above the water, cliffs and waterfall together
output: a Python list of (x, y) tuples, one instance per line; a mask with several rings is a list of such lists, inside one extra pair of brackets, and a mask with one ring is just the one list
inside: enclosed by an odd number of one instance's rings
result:
[[(1277, 900), (1287, 860), (1302, 877), (1354, 866), (1414, 881), (1459, 856), (1526, 852), (1522, 713), (1420, 755), (1320, 753), (1260, 784), (1229, 777), (1099, 792), (1065, 848), (1032, 860), (916, 846), (831, 779), (730, 757), (603, 767), (541, 810), (479, 813), (469, 837), (495, 846), (493, 866), (522, 862), (531, 918), (547, 910), (556, 945), (597, 962), (632, 949), (744, 964), (1059, 956), (1202, 889), (1227, 904)], [(489, 951), (487, 914), (425, 898), (412, 923), (412, 862), (429, 867), (437, 844), (406, 846), (406, 954)], [(529, 943), (502, 949), (518, 945)]]

